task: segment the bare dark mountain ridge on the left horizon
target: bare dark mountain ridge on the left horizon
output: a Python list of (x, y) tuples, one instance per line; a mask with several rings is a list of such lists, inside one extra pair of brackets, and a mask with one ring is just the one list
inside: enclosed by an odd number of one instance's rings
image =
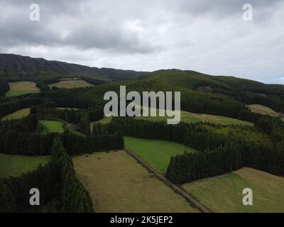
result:
[(67, 62), (50, 61), (43, 58), (26, 57), (13, 54), (0, 54), (0, 79), (28, 79), (40, 76), (72, 75), (121, 81), (126, 79), (139, 79), (148, 72), (133, 70), (115, 70), (109, 68), (99, 69)]

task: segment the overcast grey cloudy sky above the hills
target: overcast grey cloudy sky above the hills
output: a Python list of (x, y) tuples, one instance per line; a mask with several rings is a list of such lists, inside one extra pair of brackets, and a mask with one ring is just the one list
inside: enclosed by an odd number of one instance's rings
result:
[(284, 84), (284, 0), (0, 0), (0, 52)]

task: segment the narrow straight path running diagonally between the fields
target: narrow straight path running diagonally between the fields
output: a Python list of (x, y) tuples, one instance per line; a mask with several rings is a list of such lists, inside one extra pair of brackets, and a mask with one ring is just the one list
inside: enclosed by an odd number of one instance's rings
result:
[(173, 189), (173, 191), (175, 193), (180, 194), (181, 196), (183, 196), (187, 201), (190, 202), (190, 204), (193, 204), (197, 209), (199, 209), (201, 212), (203, 213), (212, 213), (212, 211), (210, 209), (208, 209), (206, 206), (204, 206), (202, 203), (200, 203), (200, 201), (198, 201), (197, 199), (195, 199), (195, 197), (193, 197), (192, 195), (188, 194), (187, 192), (185, 192), (183, 189), (181, 189), (180, 187), (178, 187), (177, 185), (173, 184), (172, 182), (170, 182), (167, 178), (165, 178), (160, 172), (158, 172), (157, 170), (155, 170), (155, 168), (151, 167), (151, 165), (148, 165), (147, 162), (145, 162), (144, 160), (141, 159), (141, 157), (139, 157), (138, 155), (136, 155), (135, 153), (133, 153), (133, 151), (124, 148), (124, 150), (126, 151), (126, 153), (129, 153), (129, 155), (131, 155), (134, 159), (136, 159), (138, 162), (141, 163), (141, 165), (143, 165), (143, 167), (146, 167), (146, 169), (150, 172), (153, 172), (153, 174), (155, 174), (156, 177), (158, 177), (158, 179), (160, 179), (161, 181), (163, 181), (168, 187), (170, 187), (171, 189)]

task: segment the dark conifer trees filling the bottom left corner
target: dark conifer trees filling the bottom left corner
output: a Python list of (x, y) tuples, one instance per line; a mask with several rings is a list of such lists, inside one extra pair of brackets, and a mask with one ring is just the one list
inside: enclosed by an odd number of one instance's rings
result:
[[(94, 212), (92, 199), (77, 179), (60, 136), (52, 144), (48, 165), (21, 177), (0, 179), (0, 212)], [(40, 206), (29, 204), (31, 188), (40, 190)]]

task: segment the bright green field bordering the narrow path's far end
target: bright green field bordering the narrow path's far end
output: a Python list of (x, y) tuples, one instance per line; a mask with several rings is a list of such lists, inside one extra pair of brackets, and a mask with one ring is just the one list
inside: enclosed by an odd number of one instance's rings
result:
[(140, 138), (124, 137), (125, 147), (139, 155), (149, 165), (161, 173), (165, 173), (170, 162), (170, 157), (192, 153), (197, 150), (180, 143), (165, 140), (146, 140)]

